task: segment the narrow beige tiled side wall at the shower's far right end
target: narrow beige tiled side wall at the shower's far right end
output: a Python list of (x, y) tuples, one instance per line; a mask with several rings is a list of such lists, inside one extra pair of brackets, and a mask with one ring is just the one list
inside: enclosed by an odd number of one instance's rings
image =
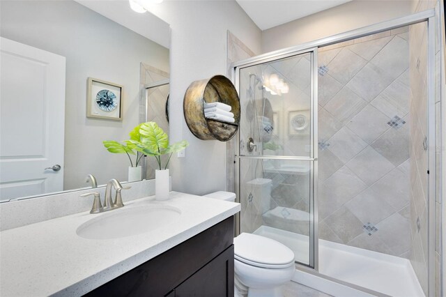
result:
[[(442, 3), (443, 5), (443, 3)], [(438, 6), (437, 1), (417, 1), (415, 8), (416, 12), (424, 11), (429, 8)], [(440, 176), (440, 157), (441, 157), (441, 139), (440, 139), (440, 48), (443, 45), (439, 43), (440, 32), (438, 25), (440, 24), (437, 7), (436, 26), (433, 29), (436, 31), (436, 73), (435, 73), (435, 109), (436, 109), (436, 194), (435, 194), (435, 254), (434, 254), (434, 271), (435, 275), (435, 292), (428, 292), (428, 271), (429, 271), (429, 246), (428, 246), (428, 207), (432, 198), (429, 198), (428, 190), (428, 174), (427, 164), (428, 151), (423, 147), (422, 142), (426, 139), (428, 133), (427, 127), (427, 105), (421, 104), (427, 100), (427, 24), (416, 24), (410, 26), (410, 86), (412, 93), (412, 100), (415, 104), (410, 107), (410, 118), (413, 119), (414, 124), (411, 125), (413, 129), (413, 142), (410, 147), (410, 158), (414, 159), (413, 167), (410, 168), (410, 227), (411, 236), (413, 240), (413, 248), (410, 252), (410, 262), (414, 271), (420, 281), (424, 294), (426, 296), (441, 296), (440, 291), (440, 229), (441, 229), (441, 199), (440, 199), (440, 183), (442, 178)], [(443, 41), (444, 42), (444, 41)], [(434, 115), (429, 115), (434, 116)], [(417, 121), (417, 123), (415, 122)], [(427, 142), (429, 148), (429, 142)], [(433, 195), (433, 193), (431, 193)]]

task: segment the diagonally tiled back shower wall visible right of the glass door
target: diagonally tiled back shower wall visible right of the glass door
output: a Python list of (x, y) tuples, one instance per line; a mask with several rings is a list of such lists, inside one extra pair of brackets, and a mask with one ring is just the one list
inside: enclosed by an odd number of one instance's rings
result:
[(408, 28), (318, 56), (321, 239), (409, 257)]

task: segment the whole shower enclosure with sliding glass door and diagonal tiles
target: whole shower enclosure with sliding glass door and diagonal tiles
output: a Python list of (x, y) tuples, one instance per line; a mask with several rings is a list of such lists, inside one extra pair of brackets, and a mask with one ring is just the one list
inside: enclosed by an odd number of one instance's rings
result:
[(240, 233), (284, 243), (298, 271), (428, 295), (432, 22), (426, 11), (233, 65)]

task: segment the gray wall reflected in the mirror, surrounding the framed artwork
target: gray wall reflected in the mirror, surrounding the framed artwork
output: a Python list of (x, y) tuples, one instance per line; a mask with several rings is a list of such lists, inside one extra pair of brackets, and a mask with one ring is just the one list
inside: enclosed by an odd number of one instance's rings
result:
[[(66, 56), (64, 189), (127, 180), (126, 155), (102, 140), (128, 139), (138, 123), (139, 63), (169, 72), (169, 50), (75, 1), (1, 1), (1, 36)], [(87, 77), (123, 85), (123, 121), (86, 118)]]

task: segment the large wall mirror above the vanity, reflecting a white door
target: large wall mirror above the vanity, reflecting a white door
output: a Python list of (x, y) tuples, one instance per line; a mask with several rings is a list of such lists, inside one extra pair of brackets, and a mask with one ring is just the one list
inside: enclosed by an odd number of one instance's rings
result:
[[(89, 188), (89, 174), (128, 181), (127, 155), (102, 141), (157, 121), (147, 103), (165, 96), (165, 107), (169, 85), (146, 86), (169, 79), (169, 24), (128, 1), (1, 1), (0, 13), (0, 202)], [(121, 120), (86, 116), (89, 78), (122, 87)]]

